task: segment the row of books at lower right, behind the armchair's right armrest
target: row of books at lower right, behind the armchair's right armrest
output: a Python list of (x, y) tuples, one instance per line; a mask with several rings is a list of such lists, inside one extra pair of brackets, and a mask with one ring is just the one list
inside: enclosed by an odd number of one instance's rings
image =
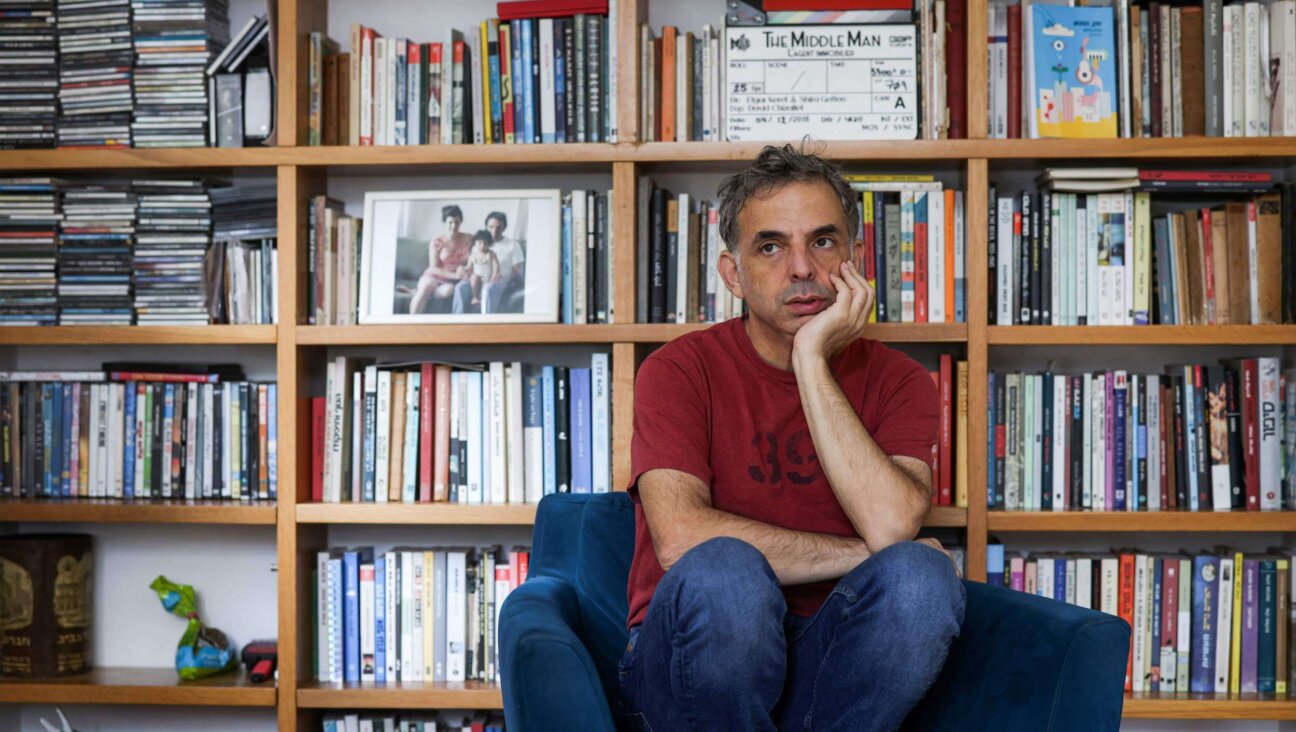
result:
[(1125, 691), (1286, 697), (1296, 684), (1291, 549), (1011, 557), (1002, 544), (988, 549), (990, 584), (1130, 624)]

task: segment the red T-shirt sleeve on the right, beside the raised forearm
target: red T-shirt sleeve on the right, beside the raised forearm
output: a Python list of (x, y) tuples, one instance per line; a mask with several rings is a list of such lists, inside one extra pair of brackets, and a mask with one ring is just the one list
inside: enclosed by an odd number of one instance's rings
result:
[(893, 457), (905, 456), (932, 464), (932, 448), (941, 425), (941, 395), (932, 377), (908, 358), (886, 369), (889, 383), (871, 437)]

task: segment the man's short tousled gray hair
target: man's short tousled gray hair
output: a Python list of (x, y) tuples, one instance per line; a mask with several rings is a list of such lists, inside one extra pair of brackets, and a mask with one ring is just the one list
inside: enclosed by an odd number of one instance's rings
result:
[(846, 216), (846, 236), (851, 244), (859, 233), (859, 194), (850, 189), (837, 166), (814, 153), (794, 150), (792, 145), (776, 148), (766, 145), (752, 166), (734, 174), (721, 184), (721, 238), (724, 247), (734, 251), (737, 244), (737, 215), (746, 202), (756, 196), (778, 190), (789, 183), (820, 181), (828, 185), (841, 202)]

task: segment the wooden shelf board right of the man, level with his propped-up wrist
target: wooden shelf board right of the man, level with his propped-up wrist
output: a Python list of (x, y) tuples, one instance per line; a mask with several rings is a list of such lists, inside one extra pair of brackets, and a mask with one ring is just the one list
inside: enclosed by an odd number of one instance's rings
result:
[(1296, 325), (991, 325), (991, 346), (1286, 346)]

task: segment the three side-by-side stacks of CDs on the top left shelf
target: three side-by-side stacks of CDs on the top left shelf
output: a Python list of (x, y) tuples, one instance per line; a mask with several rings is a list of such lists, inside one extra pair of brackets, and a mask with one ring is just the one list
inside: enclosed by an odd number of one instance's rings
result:
[(228, 0), (0, 1), (0, 149), (209, 143)]

